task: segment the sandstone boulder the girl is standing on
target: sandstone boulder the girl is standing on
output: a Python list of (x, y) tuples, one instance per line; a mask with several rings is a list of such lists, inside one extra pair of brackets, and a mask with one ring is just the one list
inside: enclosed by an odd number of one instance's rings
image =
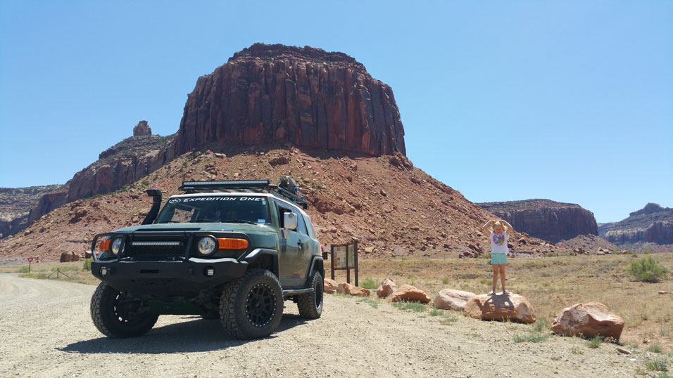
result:
[(535, 322), (535, 311), (528, 299), (519, 294), (481, 294), (465, 304), (465, 313), (480, 320)]

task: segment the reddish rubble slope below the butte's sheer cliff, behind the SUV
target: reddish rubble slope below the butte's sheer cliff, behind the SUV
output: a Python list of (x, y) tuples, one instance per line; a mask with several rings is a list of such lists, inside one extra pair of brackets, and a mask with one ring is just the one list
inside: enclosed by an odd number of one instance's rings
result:
[[(83, 254), (96, 233), (139, 224), (151, 201), (144, 189), (176, 194), (183, 180), (270, 178), (290, 174), (308, 196), (320, 242), (360, 240), (362, 256), (475, 256), (488, 252), (480, 227), (492, 217), (458, 191), (436, 181), (401, 154), (275, 148), (191, 152), (115, 193), (65, 204), (23, 233), (0, 240), (0, 258), (61, 252)], [(517, 233), (517, 253), (568, 252)]]

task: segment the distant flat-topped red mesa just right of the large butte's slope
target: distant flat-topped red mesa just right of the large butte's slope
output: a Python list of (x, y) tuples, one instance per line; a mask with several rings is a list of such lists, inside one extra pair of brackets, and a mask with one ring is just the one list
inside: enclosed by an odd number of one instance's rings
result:
[(550, 242), (572, 239), (577, 235), (598, 235), (593, 213), (578, 204), (524, 200), (488, 202), (479, 206), (512, 223), (517, 231)]

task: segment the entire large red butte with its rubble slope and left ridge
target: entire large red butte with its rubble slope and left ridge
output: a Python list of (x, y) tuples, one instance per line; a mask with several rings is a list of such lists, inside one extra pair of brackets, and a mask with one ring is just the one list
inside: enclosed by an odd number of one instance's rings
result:
[[(365, 257), (489, 248), (481, 226), (492, 215), (405, 157), (389, 86), (344, 53), (255, 44), (199, 78), (175, 136), (140, 122), (75, 174), (67, 204), (1, 240), (0, 257), (82, 254), (96, 233), (139, 223), (149, 187), (170, 195), (183, 180), (284, 175), (308, 195), (324, 244), (355, 237)], [(517, 253), (562, 252), (526, 234), (510, 240)]]

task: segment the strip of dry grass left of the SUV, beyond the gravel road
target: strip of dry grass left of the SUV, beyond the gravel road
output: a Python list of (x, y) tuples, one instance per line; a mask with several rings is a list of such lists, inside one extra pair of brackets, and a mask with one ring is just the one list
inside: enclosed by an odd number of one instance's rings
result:
[[(67, 282), (79, 282), (87, 285), (98, 285), (99, 280), (95, 278), (90, 271), (84, 271), (84, 261), (75, 261), (73, 263), (59, 263), (50, 261), (46, 263), (32, 263), (30, 266), (30, 273), (28, 272), (28, 265), (13, 265), (2, 266), (1, 273), (20, 273), (20, 277), (47, 279), (51, 273), (58, 268), (58, 280)], [(62, 275), (65, 273), (65, 275)], [(69, 278), (68, 278), (69, 277)], [(57, 280), (56, 273), (49, 277), (49, 280)]]

